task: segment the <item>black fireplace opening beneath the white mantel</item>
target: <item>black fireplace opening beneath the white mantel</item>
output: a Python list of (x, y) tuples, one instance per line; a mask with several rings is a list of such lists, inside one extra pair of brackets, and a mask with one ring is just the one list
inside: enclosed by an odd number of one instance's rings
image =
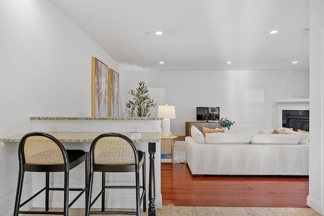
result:
[(309, 131), (309, 110), (282, 110), (282, 126)]

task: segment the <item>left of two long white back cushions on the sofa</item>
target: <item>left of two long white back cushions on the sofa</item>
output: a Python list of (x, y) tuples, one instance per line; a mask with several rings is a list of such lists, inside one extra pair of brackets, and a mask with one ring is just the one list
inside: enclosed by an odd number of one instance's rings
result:
[(206, 134), (206, 144), (250, 144), (252, 133)]

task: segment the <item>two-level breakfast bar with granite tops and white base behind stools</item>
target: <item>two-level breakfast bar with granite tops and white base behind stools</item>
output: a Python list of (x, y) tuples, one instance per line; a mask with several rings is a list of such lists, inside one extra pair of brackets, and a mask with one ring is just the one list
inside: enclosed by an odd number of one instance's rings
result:
[[(155, 215), (155, 207), (162, 207), (161, 181), (160, 181), (160, 123), (163, 118), (158, 117), (30, 117), (29, 132), (44, 132), (56, 137), (67, 149), (83, 149), (89, 151), (90, 144), (100, 134), (119, 133), (129, 137), (136, 147), (145, 151), (147, 188), (148, 188), (148, 215)], [(132, 128), (138, 128), (132, 133)], [(25, 133), (26, 134), (26, 133)], [(4, 145), (17, 145), (24, 134), (18, 134), (0, 138)], [(17, 157), (18, 160), (18, 157)], [(155, 163), (156, 161), (156, 163)], [(77, 168), (77, 167), (76, 167)], [(18, 170), (17, 170), (18, 172)], [(71, 184), (77, 186), (80, 179), (84, 177), (83, 169), (74, 171), (76, 179), (71, 179)], [(32, 174), (29, 187), (36, 191), (43, 184), (40, 174)], [(123, 174), (121, 174), (123, 175)], [(127, 175), (127, 174), (125, 174)], [(60, 182), (59, 178), (55, 182)], [(108, 181), (123, 182), (130, 181), (131, 176), (110, 175)], [(73, 182), (74, 181), (74, 182)], [(96, 181), (96, 180), (94, 180)], [(108, 208), (134, 208), (136, 202), (132, 200), (132, 194), (128, 191), (111, 191), (106, 202)], [(84, 200), (85, 201), (85, 200)], [(42, 207), (43, 200), (33, 201), (33, 207)], [(61, 197), (53, 197), (52, 207), (61, 204)], [(78, 201), (77, 201), (78, 202)], [(83, 207), (84, 202), (75, 203), (75, 207)], [(95, 206), (94, 206), (95, 207)]]

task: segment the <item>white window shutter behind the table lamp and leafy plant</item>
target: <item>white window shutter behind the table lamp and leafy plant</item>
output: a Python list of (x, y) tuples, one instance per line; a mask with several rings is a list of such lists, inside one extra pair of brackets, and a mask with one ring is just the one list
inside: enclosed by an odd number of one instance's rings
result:
[(157, 116), (158, 105), (166, 105), (167, 103), (167, 86), (166, 85), (149, 85), (147, 87), (148, 95), (155, 107), (151, 107), (149, 113), (152, 117)]

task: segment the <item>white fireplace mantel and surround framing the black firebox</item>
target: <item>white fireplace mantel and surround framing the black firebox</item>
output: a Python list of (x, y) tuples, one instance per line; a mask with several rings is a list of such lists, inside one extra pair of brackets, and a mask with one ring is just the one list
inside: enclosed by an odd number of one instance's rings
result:
[(282, 110), (309, 110), (309, 98), (278, 99), (277, 126), (282, 126)]

